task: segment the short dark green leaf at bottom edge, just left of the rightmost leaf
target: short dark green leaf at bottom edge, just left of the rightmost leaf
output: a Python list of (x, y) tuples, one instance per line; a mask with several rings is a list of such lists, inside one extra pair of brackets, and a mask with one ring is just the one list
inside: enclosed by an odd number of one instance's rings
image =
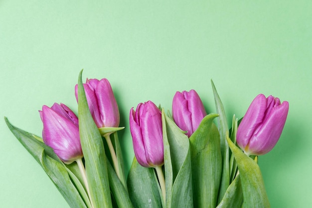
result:
[(217, 208), (241, 208), (243, 192), (240, 176), (238, 175), (227, 188), (224, 197)]

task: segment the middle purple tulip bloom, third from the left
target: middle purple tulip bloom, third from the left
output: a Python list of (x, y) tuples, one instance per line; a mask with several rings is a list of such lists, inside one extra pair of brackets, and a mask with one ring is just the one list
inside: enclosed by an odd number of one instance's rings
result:
[(148, 101), (140, 103), (137, 110), (130, 111), (130, 131), (138, 162), (144, 167), (163, 164), (163, 141), (161, 112)]

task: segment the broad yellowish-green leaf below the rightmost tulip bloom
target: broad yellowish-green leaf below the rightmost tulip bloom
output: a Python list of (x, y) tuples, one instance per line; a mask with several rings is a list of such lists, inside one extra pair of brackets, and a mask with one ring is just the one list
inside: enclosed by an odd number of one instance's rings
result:
[(267, 193), (260, 168), (253, 159), (243, 153), (227, 137), (229, 147), (237, 162), (242, 190), (243, 190), (243, 208), (270, 208)]

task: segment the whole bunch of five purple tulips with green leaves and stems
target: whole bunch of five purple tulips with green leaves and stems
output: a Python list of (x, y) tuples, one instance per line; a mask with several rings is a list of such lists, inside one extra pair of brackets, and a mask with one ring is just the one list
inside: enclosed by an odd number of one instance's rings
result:
[(263, 94), (227, 124), (212, 83), (216, 113), (195, 90), (176, 92), (172, 111), (152, 101), (130, 110), (135, 158), (126, 180), (120, 115), (107, 79), (79, 74), (78, 117), (64, 104), (43, 106), (42, 138), (6, 124), (71, 208), (269, 208), (258, 156), (278, 142), (287, 101)]

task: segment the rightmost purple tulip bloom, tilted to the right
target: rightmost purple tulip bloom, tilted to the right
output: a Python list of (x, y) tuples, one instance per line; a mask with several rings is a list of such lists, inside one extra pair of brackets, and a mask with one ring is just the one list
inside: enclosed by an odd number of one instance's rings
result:
[(247, 155), (264, 155), (278, 142), (288, 114), (289, 103), (258, 95), (240, 123), (236, 142)]

